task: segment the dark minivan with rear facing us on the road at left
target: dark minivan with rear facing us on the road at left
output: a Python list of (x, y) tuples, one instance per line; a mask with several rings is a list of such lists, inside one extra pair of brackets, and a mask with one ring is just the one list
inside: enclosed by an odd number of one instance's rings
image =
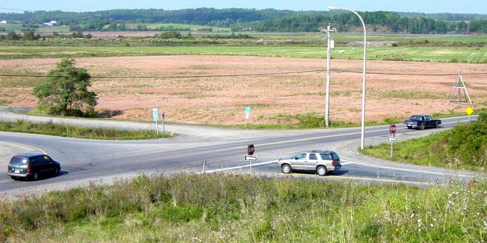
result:
[(54, 174), (61, 170), (61, 165), (43, 153), (21, 153), (12, 157), (7, 167), (7, 174), (12, 179), (39, 179), (40, 175)]

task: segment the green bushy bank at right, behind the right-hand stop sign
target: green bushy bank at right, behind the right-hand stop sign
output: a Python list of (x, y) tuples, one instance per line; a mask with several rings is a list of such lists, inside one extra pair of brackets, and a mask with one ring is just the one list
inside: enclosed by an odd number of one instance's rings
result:
[(487, 114), (468, 125), (397, 142), (392, 159), (390, 144), (366, 147), (364, 154), (384, 160), (454, 169), (483, 171), (487, 164)]

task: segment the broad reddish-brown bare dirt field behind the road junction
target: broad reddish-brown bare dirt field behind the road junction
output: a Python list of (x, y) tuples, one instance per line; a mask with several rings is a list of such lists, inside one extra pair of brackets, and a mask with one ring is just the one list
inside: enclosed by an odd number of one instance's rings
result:
[[(4, 72), (41, 74), (59, 59), (0, 60)], [(185, 76), (319, 70), (323, 59), (252, 56), (149, 56), (77, 58), (93, 76)], [(361, 71), (360, 60), (332, 60), (332, 69)], [(369, 72), (455, 74), (487, 72), (487, 64), (368, 61)], [(360, 121), (361, 73), (331, 74), (331, 120)], [(460, 112), (465, 104), (445, 103), (457, 76), (367, 76), (367, 120), (412, 114)], [(151, 108), (172, 122), (241, 124), (246, 106), (253, 124), (286, 124), (296, 114), (322, 115), (325, 73), (211, 78), (93, 79), (96, 109), (119, 119), (152, 119)], [(474, 108), (487, 106), (487, 75), (464, 76)], [(0, 103), (35, 106), (30, 94), (38, 78), (0, 79)], [(112, 114), (112, 115), (110, 115)]]

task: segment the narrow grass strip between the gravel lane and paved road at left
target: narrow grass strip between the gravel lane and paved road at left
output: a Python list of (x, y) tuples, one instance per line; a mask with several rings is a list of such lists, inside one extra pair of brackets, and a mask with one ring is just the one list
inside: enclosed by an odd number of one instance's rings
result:
[(100, 140), (137, 140), (168, 138), (169, 135), (157, 135), (154, 130), (128, 131), (104, 128), (57, 125), (52, 123), (32, 123), (22, 120), (16, 122), (0, 121), (0, 131), (25, 132), (60, 137), (100, 139)]

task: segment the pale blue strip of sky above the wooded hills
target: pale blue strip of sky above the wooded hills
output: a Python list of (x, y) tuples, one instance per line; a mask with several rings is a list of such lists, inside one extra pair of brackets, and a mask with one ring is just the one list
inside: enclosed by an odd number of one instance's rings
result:
[[(184, 8), (274, 8), (289, 10), (327, 10), (328, 6), (346, 7), (359, 11), (396, 11), (423, 13), (482, 13), (487, 14), (486, 0), (13, 0), (2, 1), (0, 8), (20, 10), (96, 11), (107, 9), (184, 9)], [(19, 12), (0, 9), (0, 12)]]

